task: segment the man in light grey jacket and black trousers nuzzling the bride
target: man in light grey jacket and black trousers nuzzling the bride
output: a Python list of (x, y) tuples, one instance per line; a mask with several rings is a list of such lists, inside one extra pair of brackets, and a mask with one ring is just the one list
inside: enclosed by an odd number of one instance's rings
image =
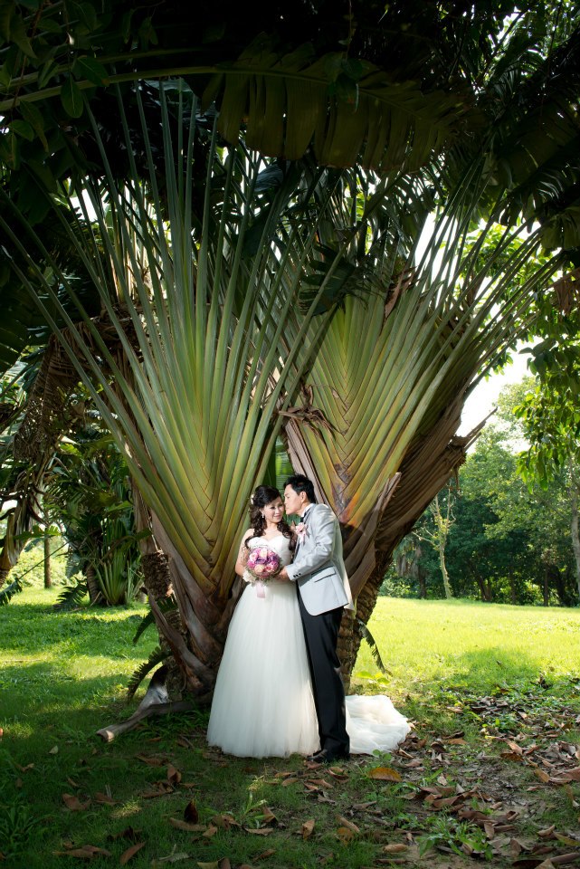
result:
[(284, 489), (288, 515), (301, 517), (294, 561), (280, 572), (298, 585), (300, 616), (309, 653), (321, 748), (309, 760), (347, 759), (349, 740), (345, 690), (337, 654), (338, 629), (344, 608), (354, 609), (342, 559), (340, 526), (326, 504), (317, 504), (314, 486), (297, 473)]

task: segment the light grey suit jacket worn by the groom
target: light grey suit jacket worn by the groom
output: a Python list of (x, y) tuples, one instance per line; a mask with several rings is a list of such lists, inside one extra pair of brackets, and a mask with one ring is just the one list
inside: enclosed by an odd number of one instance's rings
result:
[(306, 531), (286, 570), (298, 583), (304, 606), (310, 616), (338, 606), (354, 609), (337, 517), (326, 504), (312, 504), (303, 522)]

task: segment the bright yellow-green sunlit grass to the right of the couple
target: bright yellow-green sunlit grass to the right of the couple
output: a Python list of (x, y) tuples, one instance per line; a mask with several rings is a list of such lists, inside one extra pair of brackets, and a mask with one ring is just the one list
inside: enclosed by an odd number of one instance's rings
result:
[[(454, 683), (487, 692), (541, 675), (580, 675), (580, 609), (379, 597), (369, 628), (398, 695)], [(376, 672), (365, 643), (355, 675), (360, 670)]]

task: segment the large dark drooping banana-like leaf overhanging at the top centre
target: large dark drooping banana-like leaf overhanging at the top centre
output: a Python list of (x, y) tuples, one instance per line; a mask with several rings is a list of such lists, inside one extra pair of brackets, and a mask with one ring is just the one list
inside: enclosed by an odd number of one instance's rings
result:
[(350, 167), (359, 158), (378, 172), (423, 166), (465, 113), (457, 94), (424, 93), (367, 61), (356, 71), (348, 66), (348, 76), (344, 66), (342, 54), (316, 57), (309, 44), (280, 55), (261, 35), (214, 74), (204, 105), (218, 100), (219, 129), (229, 142), (243, 125), (246, 144), (262, 154), (296, 160), (313, 142), (322, 165)]

